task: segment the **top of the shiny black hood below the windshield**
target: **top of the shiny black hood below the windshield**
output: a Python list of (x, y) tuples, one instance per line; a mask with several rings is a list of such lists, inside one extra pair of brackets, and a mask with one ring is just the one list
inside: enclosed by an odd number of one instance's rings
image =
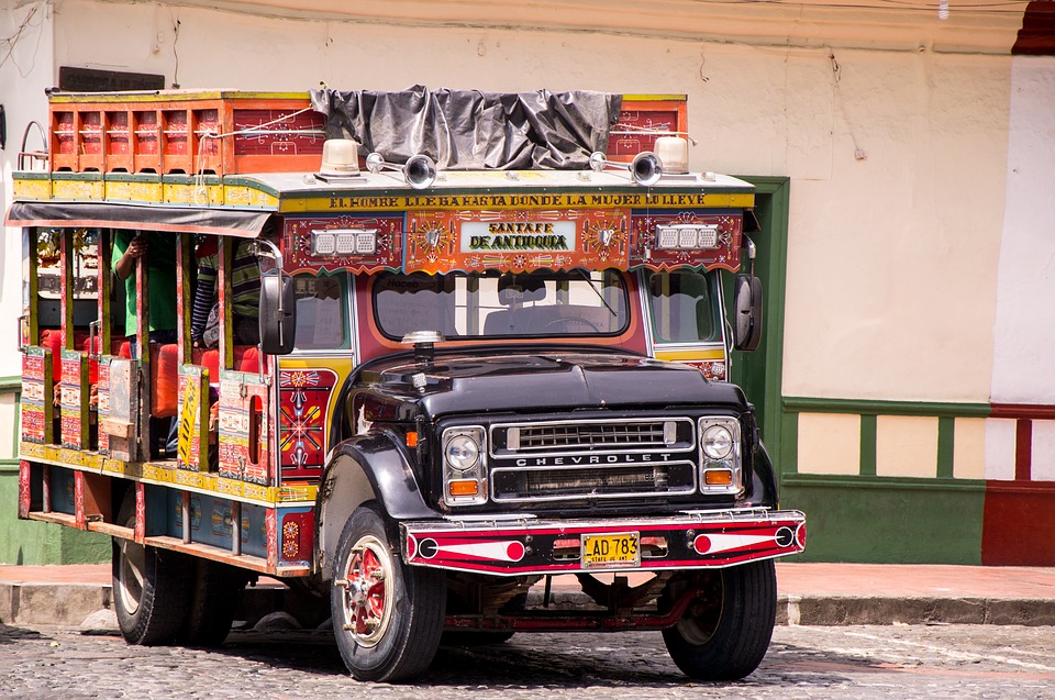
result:
[[(415, 377), (417, 375), (417, 377)], [(433, 418), (453, 413), (708, 404), (743, 408), (740, 388), (677, 363), (586, 351), (445, 355), (429, 364), (371, 364), (374, 391), (419, 402)], [(421, 386), (420, 389), (415, 388)]]

